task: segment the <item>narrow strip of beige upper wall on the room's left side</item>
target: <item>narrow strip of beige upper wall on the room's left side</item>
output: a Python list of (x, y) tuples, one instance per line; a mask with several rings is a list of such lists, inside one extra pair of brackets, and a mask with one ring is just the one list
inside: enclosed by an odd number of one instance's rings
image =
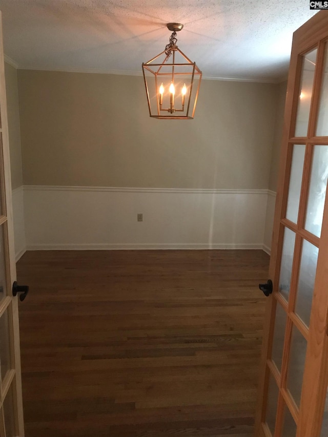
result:
[(5, 63), (6, 95), (8, 110), (10, 168), (12, 189), (23, 184), (22, 152), (20, 148), (17, 70)]

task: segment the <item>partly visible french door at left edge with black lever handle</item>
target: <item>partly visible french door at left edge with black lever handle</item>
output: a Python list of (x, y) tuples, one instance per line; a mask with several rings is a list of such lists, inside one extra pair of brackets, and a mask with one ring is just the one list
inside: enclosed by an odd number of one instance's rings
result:
[(0, 436), (23, 437), (17, 297), (13, 243), (7, 102), (0, 12)]

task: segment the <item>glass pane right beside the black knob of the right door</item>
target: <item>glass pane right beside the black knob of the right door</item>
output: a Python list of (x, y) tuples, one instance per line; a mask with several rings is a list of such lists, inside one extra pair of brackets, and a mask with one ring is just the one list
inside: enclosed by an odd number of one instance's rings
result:
[(292, 266), (294, 258), (295, 233), (285, 227), (281, 255), (279, 290), (282, 296), (288, 300), (291, 286)]

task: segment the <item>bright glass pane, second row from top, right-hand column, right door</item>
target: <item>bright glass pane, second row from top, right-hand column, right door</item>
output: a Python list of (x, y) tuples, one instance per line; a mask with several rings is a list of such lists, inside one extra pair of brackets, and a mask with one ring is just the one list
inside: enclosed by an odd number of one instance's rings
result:
[(305, 229), (320, 237), (328, 176), (328, 145), (315, 145), (312, 159)]

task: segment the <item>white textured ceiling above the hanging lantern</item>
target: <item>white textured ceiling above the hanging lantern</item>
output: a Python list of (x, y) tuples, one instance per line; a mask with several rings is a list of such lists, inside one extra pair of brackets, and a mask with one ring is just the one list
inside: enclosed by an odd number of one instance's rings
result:
[(18, 68), (141, 74), (185, 27), (179, 48), (203, 76), (280, 81), (309, 0), (0, 0), (5, 54)]

